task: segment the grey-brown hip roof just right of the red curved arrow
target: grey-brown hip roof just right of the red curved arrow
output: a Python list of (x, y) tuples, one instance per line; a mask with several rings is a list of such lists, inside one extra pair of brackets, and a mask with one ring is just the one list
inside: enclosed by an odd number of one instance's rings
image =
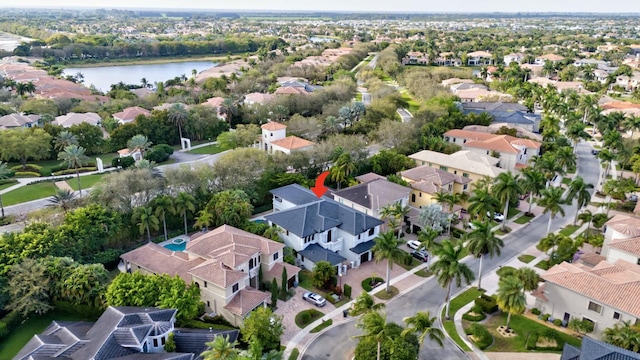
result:
[(338, 190), (333, 193), (333, 198), (339, 196), (367, 209), (378, 210), (408, 197), (410, 193), (410, 188), (383, 178)]

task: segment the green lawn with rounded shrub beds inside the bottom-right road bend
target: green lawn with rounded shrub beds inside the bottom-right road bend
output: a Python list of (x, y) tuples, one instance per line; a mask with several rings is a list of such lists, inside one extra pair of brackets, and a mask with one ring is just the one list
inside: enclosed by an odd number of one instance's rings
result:
[[(522, 315), (514, 315), (511, 317), (511, 323), (509, 327), (513, 329), (517, 336), (512, 338), (502, 337), (496, 331), (496, 328), (501, 325), (505, 325), (507, 323), (507, 315), (506, 314), (498, 314), (494, 315), (486, 320), (486, 327), (493, 335), (494, 342), (487, 351), (495, 351), (495, 352), (529, 352), (531, 350), (525, 349), (525, 342), (527, 340), (527, 336), (532, 332), (537, 332), (538, 334), (544, 332), (548, 329), (554, 329), (554, 326), (545, 326), (540, 324), (537, 321), (528, 319)], [(555, 329), (554, 329), (555, 330)], [(569, 334), (565, 334), (560, 331), (556, 331), (558, 334), (559, 342), (561, 343), (569, 343), (571, 345), (580, 346), (580, 339), (573, 337)], [(548, 350), (545, 350), (548, 351)], [(560, 351), (558, 351), (560, 352)]]

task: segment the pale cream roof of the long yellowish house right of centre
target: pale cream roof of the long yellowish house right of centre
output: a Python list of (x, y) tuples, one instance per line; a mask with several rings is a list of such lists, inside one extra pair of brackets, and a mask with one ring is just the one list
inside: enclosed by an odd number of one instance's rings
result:
[(432, 163), (441, 166), (452, 167), (462, 171), (478, 174), (481, 176), (496, 177), (505, 172), (505, 169), (496, 167), (500, 159), (488, 155), (482, 155), (471, 150), (461, 150), (453, 154), (443, 154), (431, 150), (422, 150), (409, 155), (409, 158)]

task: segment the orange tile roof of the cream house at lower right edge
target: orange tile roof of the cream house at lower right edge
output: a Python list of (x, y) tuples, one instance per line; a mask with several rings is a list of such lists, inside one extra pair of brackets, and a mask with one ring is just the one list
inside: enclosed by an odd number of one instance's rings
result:
[(552, 283), (607, 306), (640, 317), (640, 266), (624, 260), (606, 261), (589, 269), (579, 264), (562, 263), (542, 274)]

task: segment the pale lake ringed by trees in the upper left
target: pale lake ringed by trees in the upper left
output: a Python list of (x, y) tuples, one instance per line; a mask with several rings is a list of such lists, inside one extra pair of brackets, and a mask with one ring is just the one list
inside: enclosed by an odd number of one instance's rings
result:
[(191, 71), (196, 69), (199, 73), (203, 70), (216, 66), (217, 63), (211, 61), (186, 61), (164, 64), (140, 64), (140, 65), (117, 65), (101, 67), (66, 68), (64, 75), (75, 75), (81, 72), (84, 75), (84, 84), (93, 84), (98, 90), (107, 92), (112, 84), (122, 81), (125, 84), (140, 84), (140, 79), (146, 78), (149, 84), (158, 81), (165, 82), (176, 76), (184, 74), (191, 77)]

